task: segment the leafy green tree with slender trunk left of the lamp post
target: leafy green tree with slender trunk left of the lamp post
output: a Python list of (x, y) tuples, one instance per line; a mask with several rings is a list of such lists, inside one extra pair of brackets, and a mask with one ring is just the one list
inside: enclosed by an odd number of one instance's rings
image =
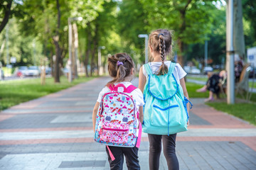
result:
[(58, 67), (64, 67), (63, 60), (68, 53), (68, 18), (82, 16), (80, 25), (85, 28), (88, 22), (95, 19), (98, 11), (102, 10), (102, 1), (24, 1), (23, 10), (26, 15), (21, 20), (24, 35), (33, 34), (38, 37), (48, 49), (44, 51), (50, 55), (52, 62), (55, 54), (55, 82), (60, 77)]

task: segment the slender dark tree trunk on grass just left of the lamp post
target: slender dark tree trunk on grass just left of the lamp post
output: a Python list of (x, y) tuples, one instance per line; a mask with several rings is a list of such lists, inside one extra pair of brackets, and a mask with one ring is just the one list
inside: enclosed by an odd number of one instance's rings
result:
[(60, 45), (59, 45), (59, 38), (60, 38), (60, 4), (59, 1), (56, 0), (56, 7), (58, 9), (58, 25), (57, 25), (57, 29), (56, 29), (56, 33), (55, 36), (53, 37), (53, 42), (55, 45), (55, 55), (56, 55), (56, 60), (55, 60), (55, 74), (54, 74), (54, 81), (55, 83), (59, 83), (60, 82)]

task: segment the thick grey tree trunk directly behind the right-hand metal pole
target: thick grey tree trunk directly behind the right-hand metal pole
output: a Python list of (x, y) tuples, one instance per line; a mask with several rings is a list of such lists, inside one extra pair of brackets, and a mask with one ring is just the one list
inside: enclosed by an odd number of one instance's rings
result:
[(245, 60), (245, 36), (242, 26), (242, 1), (234, 0), (234, 50), (242, 60)]

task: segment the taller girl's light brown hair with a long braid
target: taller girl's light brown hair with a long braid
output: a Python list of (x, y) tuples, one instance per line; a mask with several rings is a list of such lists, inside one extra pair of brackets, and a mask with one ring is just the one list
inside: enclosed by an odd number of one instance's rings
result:
[(164, 64), (166, 55), (171, 52), (171, 32), (165, 29), (158, 29), (151, 32), (149, 35), (149, 46), (154, 52), (159, 52), (161, 55), (162, 64), (159, 67), (157, 75), (164, 75), (168, 72), (168, 67)]

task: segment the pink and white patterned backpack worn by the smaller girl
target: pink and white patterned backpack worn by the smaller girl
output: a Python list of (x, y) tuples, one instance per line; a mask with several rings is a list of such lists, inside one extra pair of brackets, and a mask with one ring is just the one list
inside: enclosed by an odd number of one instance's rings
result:
[(115, 147), (139, 147), (142, 125), (136, 101), (131, 96), (137, 87), (130, 85), (126, 88), (124, 84), (117, 84), (109, 86), (109, 89), (102, 96), (97, 112), (95, 141)]

